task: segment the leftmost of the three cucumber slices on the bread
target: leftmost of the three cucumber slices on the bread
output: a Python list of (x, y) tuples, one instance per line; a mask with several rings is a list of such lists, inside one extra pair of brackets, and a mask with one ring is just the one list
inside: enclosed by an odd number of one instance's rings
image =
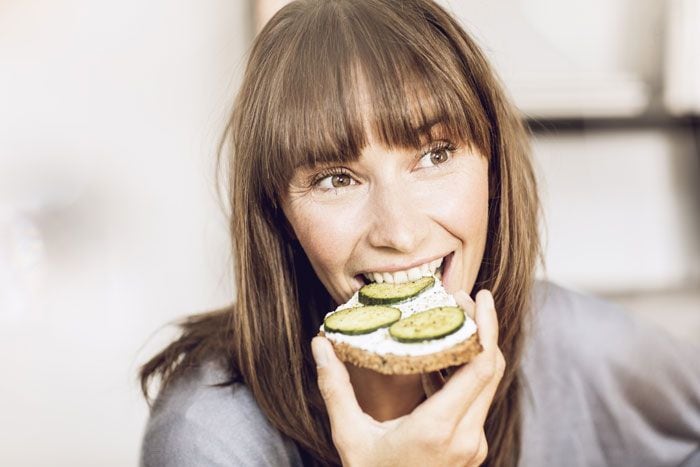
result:
[(389, 306), (357, 306), (336, 311), (323, 320), (328, 332), (351, 336), (369, 334), (401, 319), (401, 310)]

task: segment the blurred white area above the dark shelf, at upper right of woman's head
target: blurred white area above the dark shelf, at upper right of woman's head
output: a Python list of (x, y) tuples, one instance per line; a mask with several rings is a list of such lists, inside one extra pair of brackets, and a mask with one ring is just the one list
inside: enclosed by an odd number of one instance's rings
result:
[(633, 115), (660, 84), (663, 0), (439, 1), (530, 115)]

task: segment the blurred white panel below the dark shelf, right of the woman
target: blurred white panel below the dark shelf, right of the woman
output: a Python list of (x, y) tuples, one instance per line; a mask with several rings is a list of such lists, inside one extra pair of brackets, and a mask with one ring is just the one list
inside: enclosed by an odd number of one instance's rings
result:
[(695, 151), (683, 129), (537, 136), (546, 275), (614, 295), (697, 286)]

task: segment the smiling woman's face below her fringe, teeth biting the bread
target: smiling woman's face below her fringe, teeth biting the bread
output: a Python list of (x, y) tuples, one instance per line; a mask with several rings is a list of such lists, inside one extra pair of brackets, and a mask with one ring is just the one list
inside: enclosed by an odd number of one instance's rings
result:
[(488, 162), (439, 128), (421, 150), (370, 138), (355, 162), (295, 172), (284, 212), (336, 303), (366, 280), (406, 282), (436, 260), (449, 292), (471, 292), (486, 242)]

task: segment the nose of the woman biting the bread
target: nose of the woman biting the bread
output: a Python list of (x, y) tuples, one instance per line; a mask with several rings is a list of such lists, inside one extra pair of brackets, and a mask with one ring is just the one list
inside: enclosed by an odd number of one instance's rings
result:
[(419, 250), (428, 236), (429, 216), (405, 185), (391, 183), (373, 187), (368, 204), (370, 245), (401, 253)]

